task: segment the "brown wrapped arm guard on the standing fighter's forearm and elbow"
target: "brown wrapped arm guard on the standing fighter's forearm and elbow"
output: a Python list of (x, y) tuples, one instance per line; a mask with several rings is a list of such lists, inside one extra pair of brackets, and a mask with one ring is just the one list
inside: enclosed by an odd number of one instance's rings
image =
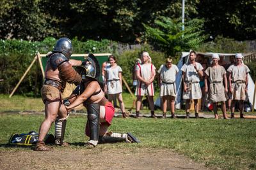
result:
[(73, 69), (68, 61), (60, 64), (58, 69), (60, 71), (61, 80), (67, 81), (68, 83), (74, 83), (75, 85), (79, 85), (79, 83), (81, 83), (81, 76), (75, 71), (75, 69)]

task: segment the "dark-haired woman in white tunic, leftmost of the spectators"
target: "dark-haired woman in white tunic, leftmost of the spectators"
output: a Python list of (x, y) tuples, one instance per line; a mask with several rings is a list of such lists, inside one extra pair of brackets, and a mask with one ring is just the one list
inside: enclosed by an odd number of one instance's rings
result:
[(122, 68), (116, 64), (116, 57), (113, 55), (109, 56), (108, 62), (110, 65), (105, 67), (105, 88), (108, 100), (112, 103), (116, 95), (122, 116), (126, 118), (127, 115), (122, 97)]

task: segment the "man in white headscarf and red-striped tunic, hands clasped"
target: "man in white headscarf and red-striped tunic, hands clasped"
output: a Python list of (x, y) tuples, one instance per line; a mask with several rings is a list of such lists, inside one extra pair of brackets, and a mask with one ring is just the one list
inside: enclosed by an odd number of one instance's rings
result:
[(156, 67), (151, 63), (151, 57), (148, 52), (142, 53), (142, 64), (136, 66), (136, 77), (138, 85), (136, 87), (136, 118), (140, 117), (141, 99), (144, 95), (148, 98), (151, 117), (156, 118), (154, 112), (154, 85), (153, 81), (156, 76)]

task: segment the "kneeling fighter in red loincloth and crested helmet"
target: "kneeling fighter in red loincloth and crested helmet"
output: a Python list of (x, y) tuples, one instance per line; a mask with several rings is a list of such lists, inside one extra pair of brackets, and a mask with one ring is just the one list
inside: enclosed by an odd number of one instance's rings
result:
[[(64, 103), (71, 103), (66, 106), (67, 111), (83, 103), (88, 112), (85, 133), (90, 137), (86, 145), (97, 146), (98, 143), (115, 143), (120, 141), (140, 142), (132, 134), (120, 134), (108, 132), (115, 114), (113, 104), (106, 99), (99, 78), (99, 63), (97, 59), (90, 54), (88, 61), (84, 66), (76, 67), (77, 73), (82, 77), (82, 83), (77, 86), (72, 95)], [(67, 105), (67, 104), (65, 104)]]

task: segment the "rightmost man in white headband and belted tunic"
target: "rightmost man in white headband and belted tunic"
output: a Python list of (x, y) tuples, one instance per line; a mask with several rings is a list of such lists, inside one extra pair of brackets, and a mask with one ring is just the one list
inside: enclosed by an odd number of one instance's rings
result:
[(244, 100), (247, 93), (248, 72), (250, 69), (243, 64), (243, 55), (236, 53), (236, 63), (228, 67), (228, 81), (230, 83), (230, 92), (232, 96), (231, 102), (231, 118), (234, 118), (235, 104), (239, 101), (240, 118), (244, 118)]

